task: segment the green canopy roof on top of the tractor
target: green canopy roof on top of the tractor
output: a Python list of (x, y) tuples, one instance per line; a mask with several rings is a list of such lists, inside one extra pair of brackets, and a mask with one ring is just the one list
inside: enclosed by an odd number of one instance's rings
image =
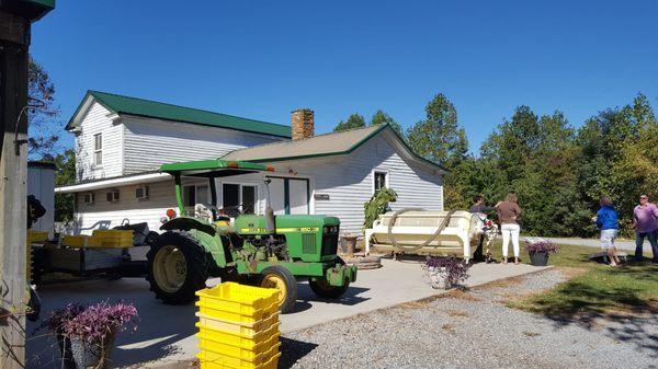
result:
[(211, 159), (162, 164), (160, 171), (173, 175), (207, 178), (254, 172), (273, 172), (274, 169), (269, 165), (251, 163), (248, 161)]

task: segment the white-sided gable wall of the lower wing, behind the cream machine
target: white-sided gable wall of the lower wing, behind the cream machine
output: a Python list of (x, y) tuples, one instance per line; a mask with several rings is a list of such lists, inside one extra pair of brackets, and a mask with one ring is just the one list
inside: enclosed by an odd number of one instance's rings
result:
[[(388, 172), (390, 188), (398, 200), (390, 207), (419, 207), (443, 210), (443, 184), (438, 174), (404, 160), (382, 136), (354, 150), (347, 157), (325, 158), (297, 162), (275, 162), (276, 171), (309, 177), (311, 210), (317, 215), (340, 218), (341, 232), (362, 232), (363, 204), (373, 195), (373, 171)], [(330, 199), (314, 199), (315, 194), (328, 194)]]

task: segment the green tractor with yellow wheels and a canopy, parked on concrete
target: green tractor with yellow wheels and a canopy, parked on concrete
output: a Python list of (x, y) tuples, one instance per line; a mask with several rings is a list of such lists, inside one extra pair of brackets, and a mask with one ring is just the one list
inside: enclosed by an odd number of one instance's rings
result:
[(160, 170), (174, 177), (179, 208), (179, 216), (168, 210), (160, 227), (164, 232), (147, 254), (150, 289), (164, 303), (190, 303), (208, 277), (222, 277), (223, 281), (277, 288), (281, 311), (286, 313), (297, 299), (297, 279), (307, 278), (313, 291), (327, 299), (340, 298), (356, 280), (356, 267), (336, 254), (340, 220), (274, 216), (269, 181), (264, 216), (202, 204), (186, 211), (183, 206), (183, 176), (207, 178), (212, 204), (216, 204), (216, 177), (271, 172), (271, 166), (217, 159), (163, 164)]

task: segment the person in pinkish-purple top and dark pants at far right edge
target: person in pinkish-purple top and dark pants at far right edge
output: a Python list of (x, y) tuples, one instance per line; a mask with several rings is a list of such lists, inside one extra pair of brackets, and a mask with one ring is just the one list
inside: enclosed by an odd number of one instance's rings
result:
[(654, 263), (658, 263), (658, 207), (649, 203), (649, 196), (640, 195), (639, 205), (633, 209), (633, 228), (635, 228), (635, 261), (643, 261), (644, 239), (649, 239)]

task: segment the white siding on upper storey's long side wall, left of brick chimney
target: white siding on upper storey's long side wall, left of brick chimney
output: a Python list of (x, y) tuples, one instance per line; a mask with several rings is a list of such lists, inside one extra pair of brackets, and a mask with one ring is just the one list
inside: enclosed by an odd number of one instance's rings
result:
[(232, 129), (170, 122), (124, 119), (125, 174), (158, 169), (163, 163), (213, 159), (282, 140)]

